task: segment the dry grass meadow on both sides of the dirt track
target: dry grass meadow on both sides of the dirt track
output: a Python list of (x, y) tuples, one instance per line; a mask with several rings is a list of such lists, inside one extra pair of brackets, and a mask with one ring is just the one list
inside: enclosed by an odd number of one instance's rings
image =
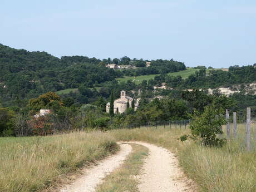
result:
[[(255, 129), (255, 124), (252, 128)], [(225, 131), (224, 126), (223, 129)], [(253, 147), (249, 152), (245, 149), (245, 125), (238, 126), (237, 140), (231, 139), (219, 148), (204, 147), (192, 140), (181, 142), (178, 138), (183, 134), (189, 134), (189, 129), (184, 126), (181, 129), (179, 126), (177, 129), (175, 126), (171, 129), (162, 126), (157, 129), (142, 127), (46, 137), (1, 138), (0, 169), (3, 171), (0, 173), (0, 191), (41, 191), (63, 174), (72, 173), (84, 163), (115, 152), (115, 141), (130, 140), (150, 142), (175, 152), (185, 174), (198, 185), (198, 192), (256, 191), (253, 131)], [(102, 188), (109, 189), (109, 186)]]

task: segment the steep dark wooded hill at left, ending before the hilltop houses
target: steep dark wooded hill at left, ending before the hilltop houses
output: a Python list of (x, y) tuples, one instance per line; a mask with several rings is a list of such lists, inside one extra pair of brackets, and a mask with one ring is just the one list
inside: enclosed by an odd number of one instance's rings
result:
[(4, 101), (31, 98), (48, 91), (76, 88), (81, 83), (91, 87), (120, 76), (100, 62), (83, 56), (57, 58), (46, 52), (16, 50), (0, 44), (0, 96)]

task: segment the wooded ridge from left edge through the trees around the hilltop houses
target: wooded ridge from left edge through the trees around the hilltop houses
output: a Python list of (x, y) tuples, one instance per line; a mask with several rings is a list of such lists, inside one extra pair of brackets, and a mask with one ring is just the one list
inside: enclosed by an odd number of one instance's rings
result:
[[(146, 67), (146, 62), (151, 62)], [(109, 63), (133, 66), (112, 70)], [(30, 99), (48, 91), (67, 88), (93, 88), (117, 77), (150, 75), (185, 70), (183, 62), (174, 60), (133, 60), (129, 57), (99, 60), (85, 56), (54, 57), (47, 52), (17, 50), (0, 44), (0, 103)]]

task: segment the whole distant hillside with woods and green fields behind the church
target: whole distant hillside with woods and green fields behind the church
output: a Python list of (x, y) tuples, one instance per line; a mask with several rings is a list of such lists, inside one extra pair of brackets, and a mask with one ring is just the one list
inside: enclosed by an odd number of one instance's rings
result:
[[(57, 58), (46, 52), (17, 50), (0, 44), (0, 102), (3, 106), (24, 106), (28, 99), (53, 91), (64, 97), (70, 96), (81, 105), (95, 102), (98, 97), (108, 99), (112, 90), (115, 97), (121, 90), (133, 95), (132, 92), (139, 92), (141, 88), (151, 92), (161, 83), (184, 90), (256, 82), (253, 66), (186, 68), (182, 62), (160, 59), (150, 61), (151, 65), (145, 67), (146, 61), (131, 60), (126, 56), (113, 60), (85, 56)], [(112, 70), (106, 67), (112, 62), (141, 67)], [(136, 94), (134, 96), (138, 96)], [(154, 96), (152, 93), (148, 95)]]

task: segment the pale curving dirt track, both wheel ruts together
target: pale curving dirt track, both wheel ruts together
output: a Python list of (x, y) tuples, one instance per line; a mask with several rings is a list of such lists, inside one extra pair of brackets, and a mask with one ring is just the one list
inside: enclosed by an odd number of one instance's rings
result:
[[(138, 144), (149, 149), (142, 173), (139, 175), (140, 192), (194, 192), (191, 189), (188, 179), (178, 166), (178, 160), (173, 153), (145, 142), (130, 141), (119, 142), (121, 150), (99, 165), (85, 170), (84, 176), (77, 179), (75, 183), (66, 186), (60, 192), (92, 192), (102, 179), (116, 168), (118, 168), (132, 151), (129, 144)], [(190, 182), (191, 183), (191, 182)]]

